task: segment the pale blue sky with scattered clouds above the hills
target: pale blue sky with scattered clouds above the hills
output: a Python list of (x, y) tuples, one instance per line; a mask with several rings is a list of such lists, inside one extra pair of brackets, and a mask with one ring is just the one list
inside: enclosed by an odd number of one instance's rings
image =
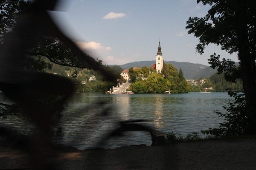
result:
[(106, 65), (155, 60), (159, 39), (165, 61), (209, 65), (214, 52), (238, 61), (216, 45), (196, 52), (198, 38), (187, 34), (189, 17), (204, 17), (210, 6), (196, 0), (62, 0), (52, 12), (76, 44)]

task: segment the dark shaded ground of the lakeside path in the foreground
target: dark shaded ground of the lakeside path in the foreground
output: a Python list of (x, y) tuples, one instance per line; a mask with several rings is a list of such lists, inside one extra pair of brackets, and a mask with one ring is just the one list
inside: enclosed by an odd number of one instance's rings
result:
[[(62, 146), (46, 157), (57, 170), (256, 170), (256, 138), (100, 150)], [(31, 160), (20, 147), (0, 144), (0, 170), (33, 169)]]

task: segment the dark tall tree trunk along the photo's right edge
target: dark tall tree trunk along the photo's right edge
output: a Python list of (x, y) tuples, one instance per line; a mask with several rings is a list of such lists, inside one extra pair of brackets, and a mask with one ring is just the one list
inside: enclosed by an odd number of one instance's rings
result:
[[(246, 16), (245, 13), (246, 8), (241, 2), (237, 15), (241, 19), (241, 16)], [(238, 57), (241, 61), (240, 65), (243, 77), (243, 88), (247, 105), (247, 117), (249, 119), (249, 132), (256, 134), (256, 75), (255, 71), (253, 70), (253, 68), (255, 68), (255, 57), (250, 53), (246, 20), (240, 20), (236, 32), (239, 43)]]

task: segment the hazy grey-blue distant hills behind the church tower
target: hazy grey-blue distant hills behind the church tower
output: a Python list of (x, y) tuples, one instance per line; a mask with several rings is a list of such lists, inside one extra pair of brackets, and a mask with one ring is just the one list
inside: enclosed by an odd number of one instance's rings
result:
[[(176, 62), (176, 61), (164, 61), (166, 64), (172, 62), (172, 65), (179, 70), (180, 68), (183, 71), (183, 75), (186, 79), (196, 79), (199, 77), (210, 77), (212, 74), (216, 72), (207, 65), (202, 64), (194, 64), (191, 62)], [(144, 65), (148, 68), (155, 64), (155, 60), (152, 61), (137, 61), (137, 62), (129, 62), (127, 64), (119, 65), (123, 69), (129, 69), (131, 67), (141, 68)]]

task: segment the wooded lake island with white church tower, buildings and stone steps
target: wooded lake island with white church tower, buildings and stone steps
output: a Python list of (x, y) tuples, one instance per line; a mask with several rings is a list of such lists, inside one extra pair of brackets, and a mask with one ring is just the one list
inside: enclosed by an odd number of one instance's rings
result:
[[(70, 76), (70, 74), (71, 73), (67, 73), (67, 76)], [(147, 68), (146, 66), (143, 66), (142, 68), (132, 67), (129, 70), (123, 70), (120, 75), (120, 79), (117, 79), (116, 86), (112, 86), (112, 88), (106, 89), (105, 92), (101, 92), (107, 94), (188, 93), (191, 91), (192, 86), (202, 85), (205, 83), (204, 79), (198, 81), (186, 80), (183, 77), (181, 69), (178, 72), (172, 63), (164, 63), (160, 40), (155, 64), (150, 68)], [(80, 83), (84, 87), (82, 88), (82, 92), (93, 92), (88, 91), (87, 88), (99, 88), (96, 87), (96, 85), (93, 85), (93, 83), (96, 83), (96, 79), (97, 76), (91, 75), (91, 77), (88, 77), (88, 83), (84, 80), (81, 81)], [(91, 85), (93, 85), (93, 88), (90, 87)], [(102, 89), (102, 85), (98, 84), (98, 86), (101, 86)], [(209, 93), (211, 91), (212, 88), (210, 87), (204, 88), (204, 91), (201, 92)]]

